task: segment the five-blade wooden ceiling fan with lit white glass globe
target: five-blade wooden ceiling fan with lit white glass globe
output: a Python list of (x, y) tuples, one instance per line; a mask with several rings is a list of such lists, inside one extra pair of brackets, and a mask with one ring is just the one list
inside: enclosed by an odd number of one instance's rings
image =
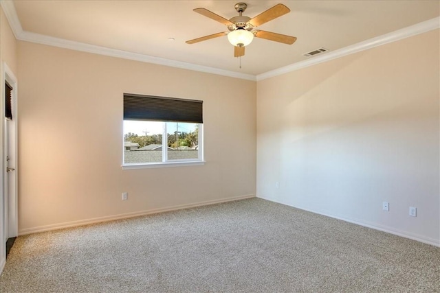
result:
[(241, 57), (245, 54), (245, 46), (249, 45), (254, 36), (256, 38), (265, 38), (266, 40), (274, 40), (275, 42), (292, 45), (296, 41), (296, 37), (287, 36), (285, 34), (276, 34), (274, 32), (266, 32), (264, 30), (254, 30), (255, 27), (272, 21), (277, 17), (280, 17), (290, 10), (283, 4), (276, 4), (274, 7), (262, 12), (251, 19), (248, 16), (243, 16), (243, 12), (248, 8), (246, 3), (236, 3), (234, 6), (236, 12), (239, 12), (239, 16), (234, 16), (232, 19), (225, 19), (214, 12), (210, 12), (205, 8), (195, 8), (194, 11), (214, 19), (223, 25), (228, 27), (229, 32), (218, 32), (217, 34), (210, 34), (208, 36), (202, 36), (201, 38), (195, 38), (193, 40), (187, 40), (187, 44), (199, 43), (202, 40), (209, 40), (210, 38), (217, 38), (219, 36), (228, 36), (229, 42), (234, 45), (234, 57)]

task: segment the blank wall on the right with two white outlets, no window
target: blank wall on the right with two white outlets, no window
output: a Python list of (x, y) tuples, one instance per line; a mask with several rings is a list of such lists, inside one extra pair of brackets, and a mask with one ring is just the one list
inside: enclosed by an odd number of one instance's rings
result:
[(440, 244), (439, 53), (435, 30), (259, 82), (257, 196)]

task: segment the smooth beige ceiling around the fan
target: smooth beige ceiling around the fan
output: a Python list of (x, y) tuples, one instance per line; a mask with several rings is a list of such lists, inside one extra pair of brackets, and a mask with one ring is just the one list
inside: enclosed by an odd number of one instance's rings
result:
[(307, 59), (303, 54), (320, 47), (335, 51), (434, 19), (440, 12), (440, 1), (245, 1), (248, 8), (243, 15), (251, 18), (277, 3), (290, 8), (290, 13), (258, 29), (296, 36), (296, 43), (254, 38), (245, 47), (241, 68), (226, 36), (185, 43), (228, 31), (225, 25), (193, 12), (194, 8), (230, 19), (238, 15), (237, 2), (13, 1), (25, 32), (249, 75), (300, 62)]

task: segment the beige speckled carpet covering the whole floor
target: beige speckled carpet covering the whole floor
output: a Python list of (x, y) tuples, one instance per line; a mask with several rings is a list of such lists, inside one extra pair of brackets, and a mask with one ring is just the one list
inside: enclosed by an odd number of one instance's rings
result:
[(252, 198), (18, 237), (0, 292), (440, 292), (440, 248)]

